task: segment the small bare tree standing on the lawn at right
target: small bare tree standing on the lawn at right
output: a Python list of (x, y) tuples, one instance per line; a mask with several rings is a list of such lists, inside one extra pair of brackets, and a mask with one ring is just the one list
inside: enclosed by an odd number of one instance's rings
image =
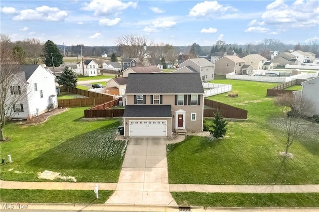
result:
[(283, 131), (286, 138), (286, 151), (293, 144), (296, 138), (301, 138), (312, 124), (307, 116), (303, 115), (302, 110), (311, 108), (312, 104), (309, 100), (302, 98), (301, 95), (283, 94), (275, 99), (275, 105), (280, 106), (281, 115), (277, 119), (279, 130)]

